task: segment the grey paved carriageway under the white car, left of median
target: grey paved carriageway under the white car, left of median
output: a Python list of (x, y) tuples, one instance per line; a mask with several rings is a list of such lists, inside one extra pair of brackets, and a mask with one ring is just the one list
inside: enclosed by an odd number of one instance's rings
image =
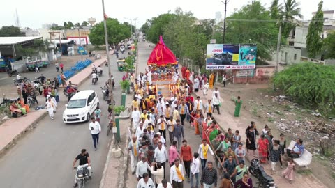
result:
[[(120, 54), (120, 56), (126, 56)], [(114, 99), (117, 105), (121, 104), (121, 80), (124, 72), (119, 72), (116, 66), (116, 57), (112, 56), (112, 75), (115, 77), (116, 87)], [(107, 68), (103, 68), (103, 77), (99, 77), (98, 84), (91, 85), (91, 80), (84, 81), (80, 90), (94, 89), (101, 102), (103, 116), (107, 114), (107, 103), (103, 101), (101, 86), (107, 80)], [(103, 167), (107, 157), (107, 143), (111, 137), (105, 135), (107, 119), (102, 118), (102, 134), (98, 151), (94, 151), (88, 123), (66, 125), (61, 120), (65, 109), (66, 97), (61, 94), (59, 109), (52, 121), (47, 116), (40, 120), (36, 130), (25, 135), (17, 146), (14, 146), (0, 159), (1, 186), (6, 188), (38, 188), (38, 187), (71, 187), (74, 183), (75, 171), (71, 169), (73, 159), (86, 148), (91, 156), (93, 178), (87, 187), (98, 187), (101, 182)]]

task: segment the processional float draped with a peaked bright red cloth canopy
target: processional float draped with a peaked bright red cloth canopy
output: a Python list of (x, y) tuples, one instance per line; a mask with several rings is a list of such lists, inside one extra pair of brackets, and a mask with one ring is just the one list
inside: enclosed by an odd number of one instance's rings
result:
[(152, 50), (147, 65), (151, 66), (152, 81), (172, 81), (174, 67), (178, 65), (176, 56), (165, 45), (162, 36)]

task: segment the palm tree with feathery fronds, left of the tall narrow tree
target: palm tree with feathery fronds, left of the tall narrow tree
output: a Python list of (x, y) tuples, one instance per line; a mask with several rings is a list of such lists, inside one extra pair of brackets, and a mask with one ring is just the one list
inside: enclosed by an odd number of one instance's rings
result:
[(284, 7), (281, 11), (283, 18), (283, 38), (288, 38), (290, 31), (295, 27), (294, 20), (296, 18), (302, 19), (300, 3), (295, 0), (284, 0)]

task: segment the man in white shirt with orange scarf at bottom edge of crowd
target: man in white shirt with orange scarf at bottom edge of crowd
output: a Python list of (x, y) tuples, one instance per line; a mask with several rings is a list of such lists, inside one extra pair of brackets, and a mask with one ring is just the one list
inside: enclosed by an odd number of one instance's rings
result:
[(174, 159), (174, 165), (170, 169), (170, 182), (173, 188), (184, 187), (184, 168), (179, 164), (179, 159)]

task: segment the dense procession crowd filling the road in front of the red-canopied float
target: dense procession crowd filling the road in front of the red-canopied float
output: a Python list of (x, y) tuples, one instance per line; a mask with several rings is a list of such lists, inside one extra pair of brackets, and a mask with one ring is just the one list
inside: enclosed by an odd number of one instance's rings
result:
[[(147, 69), (149, 71), (149, 69)], [(176, 71), (176, 74), (177, 71)], [(209, 100), (203, 102), (200, 96), (193, 98), (191, 92), (185, 92), (181, 78), (177, 79), (179, 87), (172, 97), (149, 91), (152, 83), (146, 86), (146, 73), (133, 79), (135, 96), (132, 102), (132, 128), (135, 133), (128, 145), (131, 150), (131, 171), (140, 187), (184, 187), (184, 180), (191, 182), (191, 187), (253, 187), (253, 182), (245, 165), (246, 155), (260, 157), (261, 162), (271, 163), (271, 173), (276, 173), (276, 164), (283, 168), (283, 155), (286, 148), (285, 136), (272, 136), (267, 125), (258, 132), (254, 122), (246, 127), (246, 146), (241, 141), (240, 130), (228, 129), (224, 133), (218, 126), (214, 113), (220, 114), (220, 92), (215, 88)], [(133, 75), (131, 75), (133, 77)], [(143, 79), (144, 78), (144, 79)], [(180, 81), (179, 81), (180, 79)], [(195, 77), (198, 79), (198, 77)], [(176, 84), (176, 81), (173, 81)], [(206, 83), (206, 82), (205, 82)], [(194, 91), (201, 88), (193, 81)], [(203, 85), (202, 85), (203, 86)], [(145, 89), (148, 87), (147, 89)], [(154, 87), (152, 87), (154, 89)], [(184, 91), (183, 91), (184, 89)], [(187, 94), (187, 95), (186, 95)], [(208, 96), (205, 96), (208, 98)], [(241, 99), (235, 101), (234, 116), (239, 116)], [(187, 122), (187, 124), (186, 124)], [(184, 131), (185, 125), (194, 127), (195, 135), (201, 137), (198, 148), (191, 148)], [(258, 136), (258, 137), (257, 137)], [(170, 144), (170, 146), (169, 146)], [(259, 155), (256, 155), (258, 150)], [(297, 145), (288, 150), (289, 157), (299, 157), (304, 152), (301, 139)], [(209, 154), (214, 161), (207, 161)], [(170, 179), (165, 179), (166, 165), (170, 166)], [(217, 169), (217, 170), (216, 170)], [(283, 176), (294, 180), (294, 163), (288, 162)], [(201, 175), (200, 175), (201, 171)], [(221, 182), (218, 182), (219, 179)]]

